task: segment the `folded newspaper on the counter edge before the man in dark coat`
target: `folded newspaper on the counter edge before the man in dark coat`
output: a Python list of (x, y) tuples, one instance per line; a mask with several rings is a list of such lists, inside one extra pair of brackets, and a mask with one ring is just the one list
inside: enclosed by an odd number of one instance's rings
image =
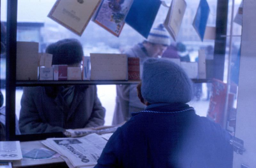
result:
[(95, 128), (67, 129), (64, 132), (64, 134), (68, 137), (79, 137), (79, 136), (85, 136), (92, 133), (97, 133), (97, 134), (113, 133), (116, 131), (118, 127), (122, 126), (122, 124), (113, 125), (113, 126), (100, 126)]

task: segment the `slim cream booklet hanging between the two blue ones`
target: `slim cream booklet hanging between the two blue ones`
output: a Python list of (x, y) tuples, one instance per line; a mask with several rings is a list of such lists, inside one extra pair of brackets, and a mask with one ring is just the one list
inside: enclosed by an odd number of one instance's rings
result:
[(180, 30), (187, 3), (184, 0), (172, 0), (167, 16), (164, 20), (164, 27), (170, 33), (174, 41)]

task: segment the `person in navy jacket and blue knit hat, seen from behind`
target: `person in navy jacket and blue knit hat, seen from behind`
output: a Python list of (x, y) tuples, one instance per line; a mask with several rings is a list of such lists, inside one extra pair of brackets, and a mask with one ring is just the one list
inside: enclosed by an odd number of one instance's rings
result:
[(231, 135), (186, 104), (193, 85), (178, 65), (146, 60), (138, 95), (146, 109), (114, 132), (95, 168), (232, 167)]

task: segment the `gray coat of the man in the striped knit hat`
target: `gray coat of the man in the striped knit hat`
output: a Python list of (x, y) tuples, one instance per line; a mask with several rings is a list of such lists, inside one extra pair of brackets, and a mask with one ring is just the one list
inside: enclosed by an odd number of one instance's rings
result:
[[(140, 58), (140, 73), (143, 62), (149, 58), (143, 45), (137, 44), (124, 52), (128, 57)], [(141, 75), (140, 75), (141, 76)], [(140, 102), (137, 96), (137, 84), (116, 85), (116, 106), (112, 125), (128, 121), (132, 112), (142, 111), (146, 106)]]

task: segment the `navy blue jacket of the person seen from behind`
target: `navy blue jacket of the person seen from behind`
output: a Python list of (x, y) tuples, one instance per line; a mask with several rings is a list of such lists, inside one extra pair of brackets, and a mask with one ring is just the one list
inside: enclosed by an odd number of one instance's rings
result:
[(110, 137), (96, 168), (231, 168), (231, 136), (187, 104), (152, 104)]

